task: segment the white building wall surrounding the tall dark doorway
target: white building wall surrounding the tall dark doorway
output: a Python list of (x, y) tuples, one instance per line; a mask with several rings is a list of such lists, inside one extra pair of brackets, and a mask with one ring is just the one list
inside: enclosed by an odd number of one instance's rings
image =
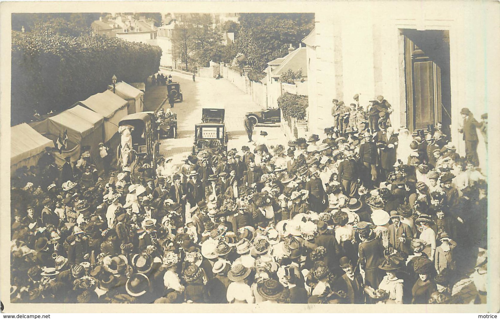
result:
[[(385, 10), (386, 3), (376, 1), (325, 3), (315, 13), (316, 59), (308, 70), (308, 74), (316, 72), (309, 75), (315, 77), (315, 85), (311, 80), (310, 86), (314, 86), (317, 95), (317, 99), (310, 99), (311, 110), (317, 109), (317, 118), (311, 119), (311, 123), (321, 130), (331, 126), (331, 99), (336, 97), (348, 103), (354, 93), (361, 93), (360, 104), (383, 95), (394, 108), (393, 126), (406, 125), (399, 28), (449, 30), (451, 135), (458, 152), (464, 155), (458, 133), (462, 122), (460, 109), (468, 107), (479, 118), (488, 107), (500, 104), (495, 70), (500, 42), (499, 17), (495, 7), (489, 7), (493, 3), (461, 4), (400, 1), (391, 2), (391, 10)], [(481, 153), (482, 137), (479, 139)]]

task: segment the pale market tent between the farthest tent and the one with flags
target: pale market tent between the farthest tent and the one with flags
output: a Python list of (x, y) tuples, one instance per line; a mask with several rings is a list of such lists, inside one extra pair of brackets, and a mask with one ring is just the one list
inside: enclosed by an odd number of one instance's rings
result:
[(127, 101), (108, 90), (89, 96), (86, 100), (80, 101), (77, 104), (104, 117), (104, 142), (109, 141), (113, 137), (118, 131), (118, 122), (128, 115)]

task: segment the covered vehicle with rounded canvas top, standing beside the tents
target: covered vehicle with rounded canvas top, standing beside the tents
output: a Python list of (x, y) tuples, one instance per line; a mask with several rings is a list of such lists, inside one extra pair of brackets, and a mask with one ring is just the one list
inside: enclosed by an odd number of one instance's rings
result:
[(123, 117), (118, 122), (118, 132), (121, 135), (116, 152), (118, 158), (123, 155), (122, 152), (132, 150), (134, 155), (152, 157), (152, 163), (155, 165), (159, 154), (155, 122), (156, 116), (153, 112), (138, 112)]

